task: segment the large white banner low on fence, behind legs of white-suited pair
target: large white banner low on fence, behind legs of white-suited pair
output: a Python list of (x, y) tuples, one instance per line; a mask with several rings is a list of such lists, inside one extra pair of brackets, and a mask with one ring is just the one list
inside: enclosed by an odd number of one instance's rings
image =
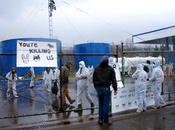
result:
[[(125, 110), (131, 110), (137, 108), (137, 99), (135, 95), (134, 85), (119, 88), (117, 95), (112, 92), (112, 113), (121, 112)], [(147, 86), (146, 92), (147, 106), (154, 105), (153, 92), (151, 86)]]

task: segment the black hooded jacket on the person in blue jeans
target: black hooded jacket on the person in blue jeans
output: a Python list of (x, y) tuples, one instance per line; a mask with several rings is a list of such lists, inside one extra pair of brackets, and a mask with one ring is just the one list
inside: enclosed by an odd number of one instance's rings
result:
[(108, 65), (108, 59), (103, 59), (93, 73), (93, 83), (95, 87), (112, 87), (117, 90), (115, 71)]

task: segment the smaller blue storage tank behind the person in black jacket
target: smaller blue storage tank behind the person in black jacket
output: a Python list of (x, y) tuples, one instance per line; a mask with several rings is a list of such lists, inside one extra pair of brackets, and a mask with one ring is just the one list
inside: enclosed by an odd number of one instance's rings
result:
[[(112, 47), (109, 43), (83, 43), (74, 46), (74, 53), (82, 54), (109, 54), (112, 51)], [(79, 61), (83, 60), (86, 66), (96, 67), (102, 56), (75, 56), (76, 69), (78, 68)]]

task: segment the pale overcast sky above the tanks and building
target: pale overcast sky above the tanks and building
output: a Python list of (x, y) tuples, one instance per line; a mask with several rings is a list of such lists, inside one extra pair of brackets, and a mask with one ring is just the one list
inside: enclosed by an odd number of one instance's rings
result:
[[(120, 43), (175, 25), (174, 0), (55, 0), (54, 37), (64, 46)], [(49, 37), (48, 0), (0, 0), (0, 40)]]

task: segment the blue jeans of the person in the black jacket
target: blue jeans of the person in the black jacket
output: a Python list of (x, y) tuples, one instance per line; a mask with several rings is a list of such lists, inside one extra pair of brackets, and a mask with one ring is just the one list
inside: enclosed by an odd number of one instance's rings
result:
[(110, 88), (105, 86), (96, 86), (99, 102), (99, 120), (108, 122), (109, 120), (109, 104), (110, 104)]

